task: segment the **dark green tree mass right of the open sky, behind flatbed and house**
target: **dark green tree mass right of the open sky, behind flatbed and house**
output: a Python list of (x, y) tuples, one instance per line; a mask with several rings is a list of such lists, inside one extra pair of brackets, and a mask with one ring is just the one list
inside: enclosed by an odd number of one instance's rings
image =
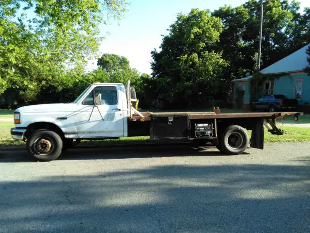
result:
[[(161, 50), (152, 51), (157, 98), (175, 107), (203, 106), (204, 97), (209, 95), (227, 100), (232, 93), (231, 81), (256, 71), (260, 4), (248, 0), (241, 6), (225, 5), (212, 13), (193, 9), (188, 16), (179, 14), (169, 35), (163, 37)], [(263, 0), (263, 6), (261, 69), (310, 41), (310, 8), (300, 14), (299, 2), (282, 0)], [(217, 54), (222, 62), (199, 65), (203, 52)]]

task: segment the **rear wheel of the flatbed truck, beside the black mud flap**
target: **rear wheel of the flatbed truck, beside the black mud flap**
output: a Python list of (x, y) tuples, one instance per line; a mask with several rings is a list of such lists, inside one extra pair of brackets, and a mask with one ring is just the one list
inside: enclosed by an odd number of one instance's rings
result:
[(239, 125), (227, 127), (221, 135), (221, 149), (229, 155), (242, 154), (247, 150), (248, 143), (248, 133)]

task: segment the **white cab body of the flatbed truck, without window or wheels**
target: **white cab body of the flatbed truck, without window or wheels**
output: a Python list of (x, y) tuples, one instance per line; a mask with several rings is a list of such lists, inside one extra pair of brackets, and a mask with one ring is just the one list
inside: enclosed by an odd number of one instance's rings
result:
[[(116, 88), (116, 104), (102, 103), (96, 106), (83, 104), (83, 100), (95, 87), (107, 86)], [(19, 112), (21, 116), (21, 123), (16, 124), (16, 127), (26, 128), (32, 123), (48, 122), (57, 125), (66, 138), (104, 138), (128, 135), (127, 100), (122, 83), (92, 84), (76, 103), (24, 106), (16, 109), (16, 112)]]

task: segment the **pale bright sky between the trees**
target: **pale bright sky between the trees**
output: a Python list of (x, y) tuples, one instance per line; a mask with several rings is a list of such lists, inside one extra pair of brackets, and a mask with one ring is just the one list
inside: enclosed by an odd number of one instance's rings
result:
[[(110, 21), (101, 25), (101, 36), (105, 39), (99, 47), (100, 54), (114, 53), (125, 56), (130, 67), (140, 73), (151, 74), (151, 51), (158, 50), (161, 35), (168, 34), (167, 29), (176, 20), (178, 13), (189, 13), (192, 8), (211, 11), (221, 6), (239, 6), (247, 0), (128, 0), (127, 12), (120, 21)], [(298, 0), (301, 9), (310, 6), (310, 0)], [(109, 32), (109, 34), (107, 34)], [(96, 60), (90, 61), (87, 69), (97, 68)]]

